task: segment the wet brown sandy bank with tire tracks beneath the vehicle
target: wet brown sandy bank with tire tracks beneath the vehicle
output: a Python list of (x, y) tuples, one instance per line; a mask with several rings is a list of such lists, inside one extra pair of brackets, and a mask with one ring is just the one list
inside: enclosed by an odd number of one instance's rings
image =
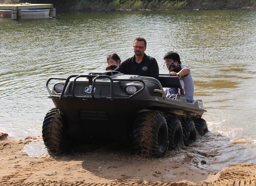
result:
[(72, 154), (38, 158), (23, 152), (26, 144), (39, 141), (41, 136), (0, 141), (1, 186), (256, 185), (255, 164), (231, 165), (212, 173), (200, 170), (185, 152), (168, 152), (161, 159), (141, 158), (113, 145), (81, 146)]

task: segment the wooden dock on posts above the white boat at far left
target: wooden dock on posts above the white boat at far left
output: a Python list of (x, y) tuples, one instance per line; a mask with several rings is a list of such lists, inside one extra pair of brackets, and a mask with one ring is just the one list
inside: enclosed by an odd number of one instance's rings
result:
[[(0, 4), (0, 10), (11, 10), (12, 20), (17, 20), (17, 17), (21, 17), (21, 10), (36, 10), (49, 9), (49, 16), (56, 17), (56, 8), (53, 4), (30, 4), (30, 3), (20, 3), (20, 4)], [(36, 10), (35, 10), (36, 9)], [(40, 12), (40, 11), (38, 11)], [(3, 14), (3, 13), (2, 13)]]

